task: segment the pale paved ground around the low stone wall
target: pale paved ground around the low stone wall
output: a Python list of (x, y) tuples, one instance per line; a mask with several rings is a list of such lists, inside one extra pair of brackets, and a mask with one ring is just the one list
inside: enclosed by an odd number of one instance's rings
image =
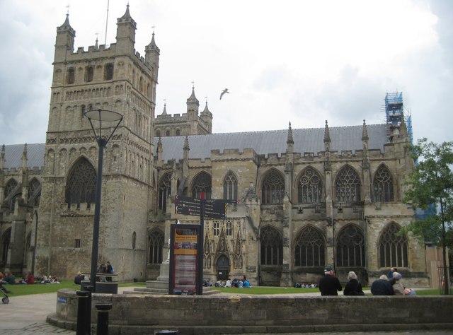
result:
[[(118, 292), (123, 290), (132, 290), (132, 288), (119, 288)], [(224, 294), (224, 293), (222, 293)], [(319, 295), (319, 293), (311, 293), (310, 295)], [(47, 335), (47, 334), (64, 334), (75, 335), (75, 331), (69, 331), (54, 327), (45, 322), (47, 315), (55, 313), (57, 310), (57, 293), (44, 293), (34, 295), (20, 295), (18, 297), (10, 297), (9, 303), (3, 304), (0, 302), (0, 334), (8, 335)], [(401, 332), (386, 332), (386, 335), (449, 335), (453, 331), (401, 331)], [(287, 334), (299, 335), (300, 333)], [(363, 332), (348, 332), (348, 333), (304, 333), (303, 335), (363, 335)], [(367, 332), (369, 334), (382, 334), (379, 332)], [(262, 334), (248, 334), (262, 335)], [(263, 334), (271, 335), (271, 334)]]

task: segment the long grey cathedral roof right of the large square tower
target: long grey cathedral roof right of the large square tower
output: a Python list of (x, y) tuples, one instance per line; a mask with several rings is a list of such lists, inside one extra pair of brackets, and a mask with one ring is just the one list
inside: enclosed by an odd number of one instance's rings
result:
[[(367, 125), (370, 150), (384, 151), (387, 143), (386, 124)], [(347, 127), (329, 127), (331, 151), (362, 150), (362, 125)], [(292, 129), (294, 153), (314, 153), (324, 151), (324, 127), (310, 129)], [(183, 159), (185, 136), (164, 136), (162, 157), (164, 161)], [(222, 133), (188, 136), (190, 145), (189, 158), (206, 159), (211, 157), (212, 150), (222, 153), (225, 149), (253, 148), (258, 155), (276, 153), (281, 155), (287, 150), (288, 130), (246, 131), (241, 133)], [(154, 138), (157, 143), (158, 138)], [(156, 148), (156, 146), (154, 147)]]

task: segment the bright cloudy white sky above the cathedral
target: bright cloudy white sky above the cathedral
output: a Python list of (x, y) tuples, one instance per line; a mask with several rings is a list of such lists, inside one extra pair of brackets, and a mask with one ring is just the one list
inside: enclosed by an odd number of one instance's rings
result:
[(415, 141), (453, 141), (453, 1), (0, 0), (0, 144), (45, 142), (67, 12), (88, 49), (127, 4), (137, 52), (153, 31), (161, 50), (156, 115), (185, 113), (194, 86), (213, 133), (377, 124), (402, 92)]

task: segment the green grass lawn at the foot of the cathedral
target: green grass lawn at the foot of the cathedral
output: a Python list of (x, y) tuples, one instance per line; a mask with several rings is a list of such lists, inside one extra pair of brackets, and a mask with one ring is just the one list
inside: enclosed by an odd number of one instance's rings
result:
[[(120, 287), (146, 287), (146, 283), (120, 283)], [(79, 290), (80, 286), (75, 285), (72, 281), (62, 281), (59, 284), (34, 284), (34, 285), (4, 285), (4, 288), (10, 290), (8, 293), (10, 297), (17, 297), (18, 295), (40, 294), (40, 293), (54, 293), (61, 288), (70, 288), (72, 290)], [(214, 288), (221, 290), (224, 293), (236, 294), (290, 294), (290, 293), (313, 293), (319, 292), (319, 288), (280, 288), (269, 286), (253, 286), (252, 288)], [(369, 288), (364, 288), (369, 290)], [(343, 294), (343, 293), (340, 293)], [(368, 293), (367, 295), (371, 295)], [(438, 289), (418, 290), (417, 295), (440, 295)]]

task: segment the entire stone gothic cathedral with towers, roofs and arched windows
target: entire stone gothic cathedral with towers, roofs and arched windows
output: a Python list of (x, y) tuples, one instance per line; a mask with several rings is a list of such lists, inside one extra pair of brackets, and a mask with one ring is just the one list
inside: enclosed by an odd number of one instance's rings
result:
[(425, 245), (398, 234), (415, 219), (402, 201), (414, 168), (402, 113), (212, 134), (215, 114), (195, 87), (184, 113), (156, 115), (160, 50), (153, 33), (139, 54), (135, 31), (129, 6), (109, 47), (75, 50), (69, 16), (57, 28), (45, 143), (1, 148), (0, 271), (68, 280), (89, 271), (99, 149), (85, 112), (102, 109), (123, 117), (103, 153), (98, 252), (120, 281), (159, 277), (170, 225), (200, 223), (176, 213), (176, 195), (205, 194), (229, 202), (226, 218), (204, 221), (211, 282), (317, 283), (333, 265), (343, 282), (355, 271), (367, 284), (394, 266), (408, 285), (430, 285)]

